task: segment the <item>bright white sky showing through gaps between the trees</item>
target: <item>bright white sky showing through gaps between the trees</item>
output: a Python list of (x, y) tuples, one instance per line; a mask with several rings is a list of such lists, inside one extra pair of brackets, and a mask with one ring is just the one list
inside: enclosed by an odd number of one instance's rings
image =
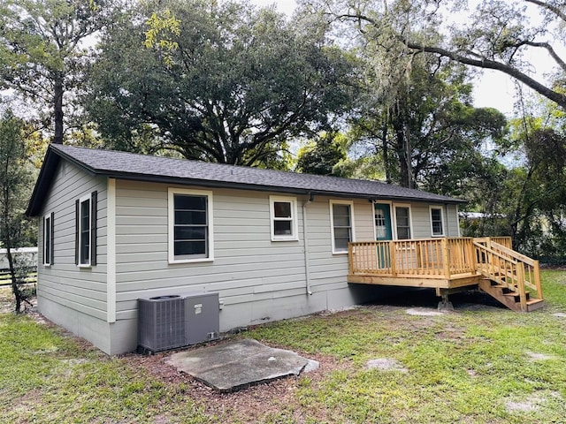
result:
[[(275, 4), (279, 11), (292, 14), (296, 7), (294, 0), (251, 0), (252, 4), (267, 6)], [(561, 52), (566, 57), (566, 47)], [(537, 75), (540, 77), (549, 72), (551, 65), (549, 59), (543, 56), (534, 57), (532, 63), (537, 64)], [(474, 84), (474, 106), (491, 107), (500, 110), (508, 117), (514, 115), (514, 104), (516, 102), (516, 83), (514, 79), (502, 72), (485, 70), (473, 79)], [(525, 93), (531, 90), (526, 88)]]

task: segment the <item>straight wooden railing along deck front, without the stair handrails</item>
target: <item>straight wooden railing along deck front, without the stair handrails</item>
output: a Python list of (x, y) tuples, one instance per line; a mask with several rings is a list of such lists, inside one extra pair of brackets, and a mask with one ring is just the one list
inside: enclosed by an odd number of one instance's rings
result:
[(350, 274), (450, 278), (476, 272), (472, 238), (360, 241), (349, 244)]

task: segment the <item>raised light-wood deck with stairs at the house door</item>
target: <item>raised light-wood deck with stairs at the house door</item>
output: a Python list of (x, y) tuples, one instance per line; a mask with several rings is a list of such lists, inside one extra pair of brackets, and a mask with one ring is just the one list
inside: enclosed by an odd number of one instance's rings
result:
[(443, 295), (479, 287), (506, 306), (542, 306), (539, 262), (510, 238), (440, 238), (350, 243), (348, 283), (430, 287)]

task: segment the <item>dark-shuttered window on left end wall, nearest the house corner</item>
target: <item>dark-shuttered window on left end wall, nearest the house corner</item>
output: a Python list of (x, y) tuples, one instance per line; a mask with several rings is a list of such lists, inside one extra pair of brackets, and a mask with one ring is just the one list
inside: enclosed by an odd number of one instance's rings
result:
[(75, 204), (75, 263), (83, 268), (96, 265), (96, 198), (92, 192)]

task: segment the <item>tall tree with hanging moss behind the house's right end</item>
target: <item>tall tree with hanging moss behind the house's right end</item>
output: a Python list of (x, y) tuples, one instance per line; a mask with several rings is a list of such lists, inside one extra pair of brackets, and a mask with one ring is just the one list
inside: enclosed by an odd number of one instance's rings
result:
[[(369, 49), (376, 49), (372, 35), (364, 36)], [(388, 55), (380, 53), (366, 58), (370, 72), (351, 136), (368, 154), (379, 155), (386, 181), (462, 195), (482, 167), (480, 148), (505, 135), (506, 118), (473, 107), (461, 65), (425, 55), (390, 58), (388, 66), (403, 71), (387, 72), (385, 80), (381, 64)]]

